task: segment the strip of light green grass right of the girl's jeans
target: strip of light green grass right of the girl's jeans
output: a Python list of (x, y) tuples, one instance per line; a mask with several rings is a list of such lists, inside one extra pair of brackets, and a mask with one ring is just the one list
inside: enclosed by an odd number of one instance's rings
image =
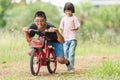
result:
[(119, 54), (119, 45), (109, 45), (109, 44), (97, 44), (92, 42), (81, 43), (78, 41), (76, 48), (76, 55), (103, 55), (103, 54)]

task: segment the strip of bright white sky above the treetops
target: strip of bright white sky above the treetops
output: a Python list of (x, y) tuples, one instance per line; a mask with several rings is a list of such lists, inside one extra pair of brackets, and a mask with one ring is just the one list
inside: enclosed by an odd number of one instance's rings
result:
[[(21, 0), (13, 0), (20, 2)], [(26, 0), (28, 3), (30, 0)], [(36, 0), (32, 0), (33, 2)], [(58, 7), (64, 7), (64, 4), (66, 2), (72, 2), (73, 4), (77, 4), (79, 2), (87, 2), (91, 1), (93, 5), (114, 5), (114, 4), (120, 4), (120, 0), (41, 0), (43, 2), (50, 2)]]

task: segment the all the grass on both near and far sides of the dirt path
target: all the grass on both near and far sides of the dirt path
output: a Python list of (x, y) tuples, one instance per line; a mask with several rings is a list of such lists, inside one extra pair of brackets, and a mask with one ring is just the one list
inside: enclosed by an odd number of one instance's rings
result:
[[(1, 31), (0, 35), (0, 65), (2, 65), (1, 69), (8, 68), (10, 64), (16, 62), (26, 62), (29, 60), (29, 56), (27, 55), (29, 46), (25, 40), (23, 33), (10, 34), (9, 32), (4, 32), (3, 34)], [(76, 49), (76, 56), (99, 56), (112, 54), (119, 55), (119, 53), (119, 45), (110, 46), (108, 44), (95, 44), (88, 42), (81, 44), (80, 41), (78, 41), (78, 46)], [(24, 70), (21, 71), (23, 73), (20, 73), (19, 75), (11, 74), (4, 76), (2, 76), (2, 73), (0, 72), (0, 80), (39, 80), (37, 77), (24, 73)], [(19, 78), (20, 75), (21, 78)], [(40, 80), (48, 80), (48, 77), (49, 76), (43, 76)], [(83, 76), (80, 75), (80, 77), (79, 74), (60, 73), (55, 75), (55, 77), (52, 76), (52, 78), (50, 76), (50, 80), (120, 80), (120, 61), (112, 61), (107, 59), (102, 62), (101, 66), (89, 67), (89, 71), (87, 71)]]

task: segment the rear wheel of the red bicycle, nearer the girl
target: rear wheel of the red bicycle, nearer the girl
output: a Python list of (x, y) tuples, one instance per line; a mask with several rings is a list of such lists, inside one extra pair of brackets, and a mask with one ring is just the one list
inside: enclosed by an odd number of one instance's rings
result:
[(55, 73), (57, 68), (57, 57), (53, 49), (50, 51), (49, 54), (50, 55), (47, 58), (47, 69), (49, 73), (52, 74), (52, 73)]

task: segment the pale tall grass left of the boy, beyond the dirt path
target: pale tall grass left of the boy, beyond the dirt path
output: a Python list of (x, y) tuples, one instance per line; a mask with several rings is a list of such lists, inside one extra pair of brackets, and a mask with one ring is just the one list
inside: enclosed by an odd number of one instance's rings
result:
[(27, 59), (28, 44), (21, 34), (0, 33), (0, 62), (13, 62)]

